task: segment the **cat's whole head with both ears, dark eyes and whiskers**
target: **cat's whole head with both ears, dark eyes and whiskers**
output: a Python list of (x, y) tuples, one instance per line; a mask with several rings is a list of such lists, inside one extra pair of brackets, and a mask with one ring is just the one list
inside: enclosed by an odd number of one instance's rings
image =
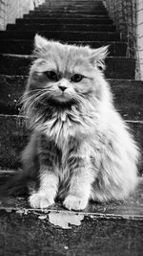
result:
[[(35, 36), (37, 59), (31, 66), (28, 90), (43, 105), (78, 105), (99, 93), (107, 47), (63, 45)], [(97, 95), (98, 97), (98, 95)]]

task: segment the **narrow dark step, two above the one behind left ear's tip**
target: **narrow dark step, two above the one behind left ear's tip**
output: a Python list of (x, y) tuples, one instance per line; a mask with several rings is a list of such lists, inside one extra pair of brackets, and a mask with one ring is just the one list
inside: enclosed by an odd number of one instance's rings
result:
[(58, 17), (58, 18), (53, 18), (53, 17), (47, 17), (47, 18), (44, 18), (44, 17), (40, 17), (40, 18), (30, 18), (30, 17), (27, 17), (27, 18), (17, 18), (16, 19), (16, 24), (34, 24), (34, 23), (38, 23), (38, 24), (112, 24), (112, 19), (111, 18), (99, 18), (99, 17), (96, 17), (96, 18), (70, 18), (70, 17)]

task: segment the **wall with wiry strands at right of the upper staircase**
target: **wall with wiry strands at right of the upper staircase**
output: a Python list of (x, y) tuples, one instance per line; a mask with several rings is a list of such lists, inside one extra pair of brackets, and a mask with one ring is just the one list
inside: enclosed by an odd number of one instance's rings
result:
[(143, 0), (103, 0), (121, 39), (128, 42), (127, 57), (136, 59), (135, 80), (143, 81)]

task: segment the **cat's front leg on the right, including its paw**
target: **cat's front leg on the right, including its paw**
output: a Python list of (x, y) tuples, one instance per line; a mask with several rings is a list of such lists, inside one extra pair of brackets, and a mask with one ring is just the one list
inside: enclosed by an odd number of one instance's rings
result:
[(69, 210), (82, 210), (86, 208), (91, 198), (94, 174), (92, 172), (90, 154), (87, 151), (83, 152), (80, 153), (78, 151), (78, 155), (74, 155), (71, 161), (69, 161), (71, 163), (72, 177), (68, 196), (63, 202), (64, 206)]

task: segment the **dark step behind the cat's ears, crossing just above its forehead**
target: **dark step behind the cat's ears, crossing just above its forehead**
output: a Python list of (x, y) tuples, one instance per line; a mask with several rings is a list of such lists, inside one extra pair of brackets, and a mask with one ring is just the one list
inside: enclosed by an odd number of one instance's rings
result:
[[(62, 42), (62, 40), (61, 40)], [(63, 41), (64, 43), (64, 41)], [(109, 45), (109, 55), (125, 57), (127, 51), (126, 42), (113, 41), (67, 41), (70, 44), (90, 45), (92, 48), (98, 48), (103, 45)], [(31, 55), (33, 50), (33, 40), (24, 39), (6, 39), (0, 40), (0, 53)]]

